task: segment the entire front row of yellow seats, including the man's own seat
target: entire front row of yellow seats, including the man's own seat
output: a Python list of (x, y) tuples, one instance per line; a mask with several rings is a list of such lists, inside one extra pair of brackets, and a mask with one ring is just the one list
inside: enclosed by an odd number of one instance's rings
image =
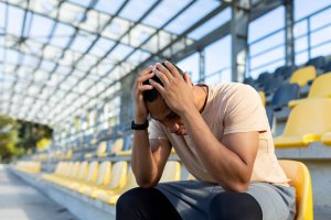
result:
[[(36, 162), (19, 162), (17, 167), (26, 167)], [(290, 186), (296, 188), (296, 218), (312, 219), (313, 204), (311, 178), (306, 165), (288, 160), (279, 160), (279, 164), (291, 179)], [(31, 168), (31, 167), (30, 167)], [(21, 169), (20, 169), (21, 170)], [(24, 168), (24, 173), (26, 172)], [(43, 174), (42, 179), (51, 185), (66, 188), (79, 195), (115, 206), (120, 195), (137, 187), (136, 178), (127, 162), (60, 162), (52, 174)], [(195, 179), (189, 175), (186, 179)], [(181, 180), (180, 162), (169, 161), (164, 167), (161, 183)]]

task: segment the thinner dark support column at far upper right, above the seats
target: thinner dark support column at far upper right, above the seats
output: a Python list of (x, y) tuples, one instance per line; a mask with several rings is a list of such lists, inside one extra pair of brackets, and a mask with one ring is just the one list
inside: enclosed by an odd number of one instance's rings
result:
[(286, 51), (286, 65), (292, 66), (295, 65), (295, 35), (293, 35), (293, 0), (286, 0), (285, 2), (286, 9), (286, 29), (285, 29), (285, 51)]

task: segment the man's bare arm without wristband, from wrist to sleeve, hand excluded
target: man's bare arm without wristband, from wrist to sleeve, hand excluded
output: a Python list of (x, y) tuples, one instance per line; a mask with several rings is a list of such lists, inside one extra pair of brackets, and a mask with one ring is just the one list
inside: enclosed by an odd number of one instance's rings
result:
[(224, 188), (245, 191), (257, 154), (258, 132), (226, 134), (221, 143), (197, 111), (186, 112), (182, 120), (204, 166), (216, 182)]

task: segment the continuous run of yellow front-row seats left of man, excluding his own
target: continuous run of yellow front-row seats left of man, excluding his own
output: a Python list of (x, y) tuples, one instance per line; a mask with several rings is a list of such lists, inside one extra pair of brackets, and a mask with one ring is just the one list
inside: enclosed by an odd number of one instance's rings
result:
[[(180, 178), (180, 163), (168, 162), (160, 182)], [(127, 162), (60, 162), (55, 172), (43, 175), (42, 179), (110, 205), (115, 205), (121, 194), (137, 187)]]

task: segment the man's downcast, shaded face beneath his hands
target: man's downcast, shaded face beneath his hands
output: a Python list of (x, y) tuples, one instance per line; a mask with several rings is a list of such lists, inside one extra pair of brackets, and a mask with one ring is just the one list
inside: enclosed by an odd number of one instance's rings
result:
[(171, 133), (186, 135), (186, 130), (181, 118), (167, 106), (161, 97), (152, 102), (148, 101), (146, 106), (151, 118), (161, 122)]

